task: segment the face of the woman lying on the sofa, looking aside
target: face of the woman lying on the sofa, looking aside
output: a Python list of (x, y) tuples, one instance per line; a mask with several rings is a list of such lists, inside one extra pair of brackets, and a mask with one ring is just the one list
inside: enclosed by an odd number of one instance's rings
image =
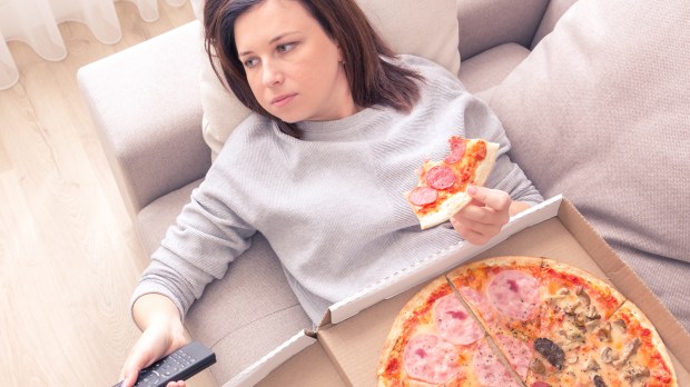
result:
[(266, 0), (235, 22), (247, 81), (266, 111), (285, 122), (356, 112), (337, 43), (297, 0)]

